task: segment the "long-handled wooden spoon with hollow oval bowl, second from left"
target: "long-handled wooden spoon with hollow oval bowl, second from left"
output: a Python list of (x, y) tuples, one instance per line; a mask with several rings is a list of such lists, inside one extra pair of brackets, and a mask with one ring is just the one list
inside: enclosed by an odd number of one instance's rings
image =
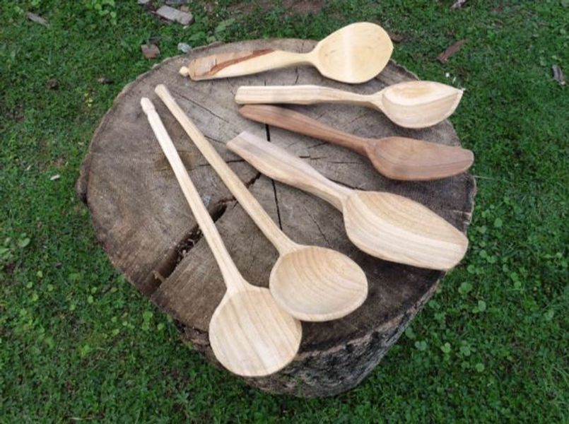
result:
[(190, 121), (168, 88), (160, 84), (155, 91), (235, 199), (278, 250), (279, 257), (269, 279), (271, 294), (278, 305), (304, 321), (341, 318), (360, 307), (368, 297), (368, 280), (358, 264), (335, 250), (297, 245), (289, 239)]

